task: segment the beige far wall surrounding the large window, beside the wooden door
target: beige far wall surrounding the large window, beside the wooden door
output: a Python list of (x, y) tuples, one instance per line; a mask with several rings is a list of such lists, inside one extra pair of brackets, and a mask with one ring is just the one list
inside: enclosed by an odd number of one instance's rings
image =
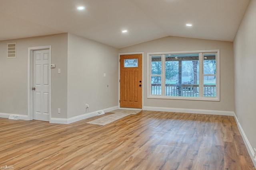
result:
[[(147, 98), (147, 53), (220, 49), (220, 102)], [(120, 53), (144, 52), (144, 106), (234, 111), (234, 63), (232, 42), (164, 37), (122, 48)]]

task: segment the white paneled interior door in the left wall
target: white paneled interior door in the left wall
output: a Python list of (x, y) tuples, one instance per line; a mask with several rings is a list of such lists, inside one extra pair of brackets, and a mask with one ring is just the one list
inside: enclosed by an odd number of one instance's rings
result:
[(50, 53), (34, 51), (33, 66), (33, 119), (49, 121), (50, 105)]

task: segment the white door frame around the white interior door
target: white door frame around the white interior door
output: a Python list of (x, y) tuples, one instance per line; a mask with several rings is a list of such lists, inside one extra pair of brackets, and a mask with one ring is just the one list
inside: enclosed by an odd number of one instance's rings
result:
[[(28, 48), (28, 120), (33, 120), (33, 66), (34, 66), (34, 51), (49, 50), (49, 61), (52, 63), (52, 46), (29, 47)], [(51, 67), (49, 67), (49, 122), (52, 117), (52, 78)]]

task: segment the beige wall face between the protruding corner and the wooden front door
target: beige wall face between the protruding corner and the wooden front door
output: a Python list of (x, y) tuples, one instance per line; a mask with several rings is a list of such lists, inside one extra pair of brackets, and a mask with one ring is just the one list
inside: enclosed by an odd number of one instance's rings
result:
[(68, 33), (68, 118), (114, 106), (118, 49)]

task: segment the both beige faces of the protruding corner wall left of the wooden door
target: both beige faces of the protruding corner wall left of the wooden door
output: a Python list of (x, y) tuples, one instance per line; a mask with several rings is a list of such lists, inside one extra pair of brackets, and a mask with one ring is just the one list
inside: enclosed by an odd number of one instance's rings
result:
[[(7, 43), (13, 42), (17, 58), (7, 59)], [(46, 45), (52, 46), (56, 64), (51, 69), (52, 118), (118, 106), (118, 49), (64, 33), (0, 41), (0, 113), (28, 115), (28, 48)]]

